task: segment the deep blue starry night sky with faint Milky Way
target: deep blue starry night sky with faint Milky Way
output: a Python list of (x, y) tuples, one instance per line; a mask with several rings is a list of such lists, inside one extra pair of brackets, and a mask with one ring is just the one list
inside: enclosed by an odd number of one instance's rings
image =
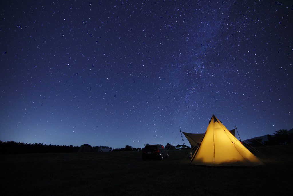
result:
[(292, 1), (0, 7), (1, 141), (177, 145), (212, 114), (242, 140), (293, 128)]

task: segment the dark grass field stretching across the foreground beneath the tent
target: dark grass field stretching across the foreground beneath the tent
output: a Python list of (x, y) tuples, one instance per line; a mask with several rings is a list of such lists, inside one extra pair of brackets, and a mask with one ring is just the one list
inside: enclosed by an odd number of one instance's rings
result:
[(293, 145), (257, 148), (265, 166), (189, 165), (141, 152), (0, 155), (1, 195), (292, 195)]

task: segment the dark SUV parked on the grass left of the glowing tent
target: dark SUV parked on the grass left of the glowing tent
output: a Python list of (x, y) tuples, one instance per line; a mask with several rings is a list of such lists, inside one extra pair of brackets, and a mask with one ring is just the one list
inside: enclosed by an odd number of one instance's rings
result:
[(142, 149), (142, 160), (167, 158), (168, 151), (161, 144), (148, 145)]

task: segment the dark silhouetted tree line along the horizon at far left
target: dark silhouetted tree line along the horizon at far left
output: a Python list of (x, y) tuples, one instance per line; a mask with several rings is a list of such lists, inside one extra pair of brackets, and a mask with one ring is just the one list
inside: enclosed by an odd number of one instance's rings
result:
[(24, 154), (24, 153), (76, 153), (78, 146), (59, 146), (46, 145), (42, 143), (28, 144), (20, 142), (2, 142), (0, 141), (0, 154)]

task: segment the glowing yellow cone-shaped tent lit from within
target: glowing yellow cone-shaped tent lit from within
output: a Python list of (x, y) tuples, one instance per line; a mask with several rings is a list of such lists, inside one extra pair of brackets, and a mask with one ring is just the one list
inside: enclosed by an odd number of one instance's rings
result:
[(216, 167), (264, 165), (214, 115), (190, 164)]

